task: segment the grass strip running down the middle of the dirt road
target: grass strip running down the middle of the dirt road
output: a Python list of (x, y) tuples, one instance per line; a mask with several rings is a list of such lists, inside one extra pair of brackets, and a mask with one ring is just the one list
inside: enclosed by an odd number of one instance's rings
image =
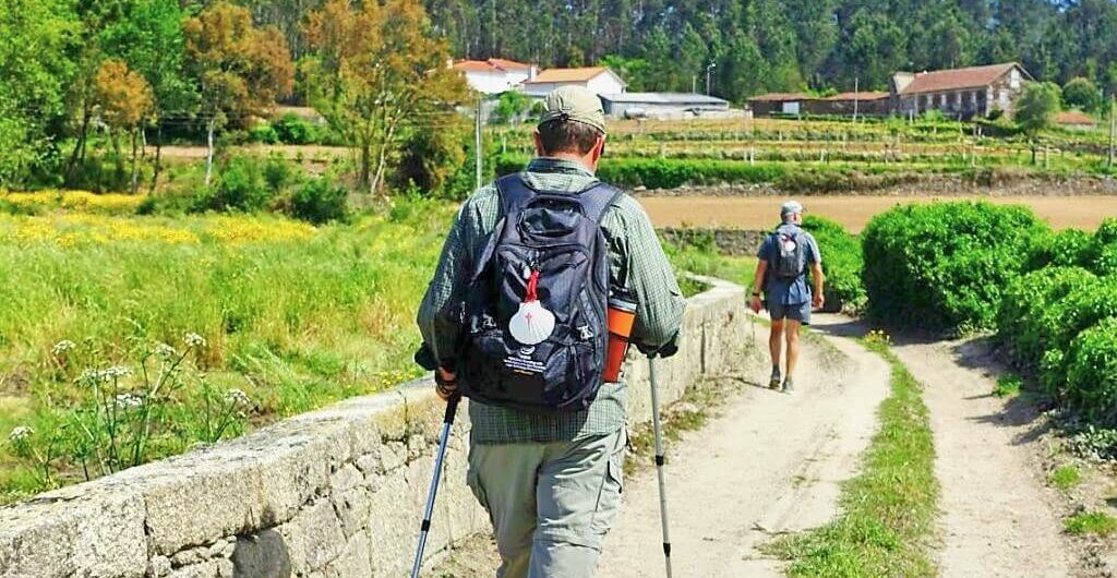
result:
[(790, 561), (791, 577), (933, 577), (938, 482), (923, 386), (888, 349), (866, 346), (892, 366), (891, 395), (880, 405), (880, 428), (861, 472), (846, 482), (833, 522), (765, 547)]

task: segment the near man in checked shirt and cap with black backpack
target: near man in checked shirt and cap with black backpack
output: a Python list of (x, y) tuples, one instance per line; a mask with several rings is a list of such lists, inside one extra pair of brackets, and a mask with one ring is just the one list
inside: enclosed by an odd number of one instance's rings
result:
[(601, 102), (545, 104), (537, 157), (465, 202), (418, 316), (439, 394), (470, 398), (467, 481), (502, 578), (593, 576), (627, 443), (624, 384), (600, 378), (607, 291), (637, 304), (645, 353), (674, 353), (685, 308), (639, 203), (594, 177)]

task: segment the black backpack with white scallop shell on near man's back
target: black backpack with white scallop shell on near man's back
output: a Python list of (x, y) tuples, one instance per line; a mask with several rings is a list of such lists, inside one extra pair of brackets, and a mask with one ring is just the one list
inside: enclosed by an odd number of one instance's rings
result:
[(620, 192), (602, 183), (535, 191), (518, 174), (496, 185), (503, 216), (472, 263), (459, 388), (516, 410), (584, 410), (601, 387), (608, 343), (600, 222)]

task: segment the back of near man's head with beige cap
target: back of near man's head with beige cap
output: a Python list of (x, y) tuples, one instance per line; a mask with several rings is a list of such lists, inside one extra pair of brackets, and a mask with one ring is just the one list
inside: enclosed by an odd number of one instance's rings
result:
[(554, 89), (545, 100), (536, 131), (546, 155), (589, 154), (605, 134), (605, 114), (601, 99), (581, 86)]

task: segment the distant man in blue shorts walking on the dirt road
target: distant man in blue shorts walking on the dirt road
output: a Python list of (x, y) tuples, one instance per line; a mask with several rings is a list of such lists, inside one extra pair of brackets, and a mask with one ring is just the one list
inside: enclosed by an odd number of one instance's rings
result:
[[(780, 209), (782, 223), (775, 232), (764, 240), (756, 263), (756, 277), (753, 280), (753, 311), (761, 310), (761, 289), (765, 292), (764, 301), (772, 316), (772, 333), (768, 335), (768, 349), (772, 351), (772, 377), (768, 387), (783, 388), (784, 393), (794, 392), (793, 376), (795, 362), (799, 358), (799, 328), (811, 324), (811, 307), (821, 308), (823, 297), (822, 254), (819, 244), (811, 233), (800, 225), (803, 222), (803, 205), (795, 201), (783, 203)], [(806, 270), (810, 268), (811, 281), (806, 283)], [(780, 374), (780, 357), (783, 343), (787, 343), (787, 373)]]

